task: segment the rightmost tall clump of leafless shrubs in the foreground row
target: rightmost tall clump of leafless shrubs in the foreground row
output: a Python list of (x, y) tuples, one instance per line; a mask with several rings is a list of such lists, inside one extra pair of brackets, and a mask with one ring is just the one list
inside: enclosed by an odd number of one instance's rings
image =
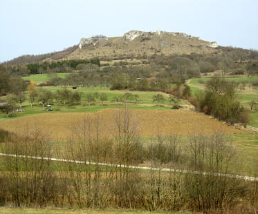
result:
[[(246, 193), (231, 173), (234, 150), (223, 135), (195, 136), (188, 146), (189, 170), (185, 196), (193, 211), (223, 211)], [(207, 173), (208, 172), (208, 173)]]

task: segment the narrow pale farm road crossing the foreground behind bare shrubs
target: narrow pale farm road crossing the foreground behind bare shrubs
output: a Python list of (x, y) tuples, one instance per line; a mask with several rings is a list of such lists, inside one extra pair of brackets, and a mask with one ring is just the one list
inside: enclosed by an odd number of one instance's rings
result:
[(147, 166), (125, 166), (125, 165), (120, 165), (120, 164), (84, 162), (84, 161), (79, 161), (79, 160), (59, 159), (59, 158), (54, 158), (54, 157), (13, 155), (13, 154), (6, 154), (6, 153), (0, 153), (0, 156), (23, 157), (23, 158), (31, 158), (31, 159), (45, 159), (45, 160), (51, 160), (51, 161), (56, 161), (56, 162), (71, 162), (71, 163), (75, 163), (75, 164), (92, 164), (92, 165), (100, 165), (100, 166), (113, 166), (113, 167), (133, 168), (133, 169), (142, 169), (142, 170), (165, 171), (165, 172), (172, 172), (172, 173), (192, 173), (192, 174), (202, 174), (202, 175), (225, 176), (225, 177), (243, 179), (245, 181), (250, 181), (250, 182), (258, 182), (258, 177), (249, 177), (249, 176), (244, 176), (244, 175), (220, 174), (220, 173), (209, 173), (209, 172), (200, 172), (200, 171), (187, 171), (187, 170), (181, 170), (181, 169), (175, 169), (175, 168), (151, 168), (151, 167), (147, 167)]

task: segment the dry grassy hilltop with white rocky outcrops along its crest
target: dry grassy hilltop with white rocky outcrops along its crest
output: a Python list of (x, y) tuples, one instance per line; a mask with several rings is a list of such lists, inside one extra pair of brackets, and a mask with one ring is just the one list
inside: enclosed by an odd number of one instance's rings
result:
[(151, 55), (210, 54), (221, 52), (216, 42), (208, 42), (181, 32), (142, 32), (131, 30), (122, 37), (95, 36), (82, 38), (76, 46), (44, 55), (23, 55), (6, 65), (26, 64), (59, 59), (102, 60), (145, 58)]

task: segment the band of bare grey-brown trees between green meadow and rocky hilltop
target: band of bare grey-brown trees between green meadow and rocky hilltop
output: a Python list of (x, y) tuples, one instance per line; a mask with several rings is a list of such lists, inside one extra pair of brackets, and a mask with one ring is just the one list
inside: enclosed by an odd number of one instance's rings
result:
[(216, 70), (221, 70), (222, 75), (257, 75), (258, 62), (234, 61), (223, 55), (155, 55), (142, 61), (142, 65), (130, 65), (126, 61), (120, 61), (112, 66), (94, 68), (79, 64), (76, 70), (78, 72), (66, 79), (55, 78), (46, 85), (107, 86), (116, 90), (165, 90), (171, 87), (171, 84), (185, 84), (189, 78), (200, 77), (201, 73)]

